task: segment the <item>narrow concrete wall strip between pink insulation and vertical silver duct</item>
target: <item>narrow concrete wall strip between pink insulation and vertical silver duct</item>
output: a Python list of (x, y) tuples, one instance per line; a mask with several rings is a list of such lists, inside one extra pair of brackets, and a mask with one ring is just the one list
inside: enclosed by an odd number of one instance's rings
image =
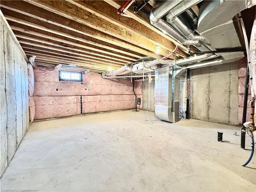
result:
[(155, 80), (143, 81), (142, 86), (142, 109), (155, 111)]

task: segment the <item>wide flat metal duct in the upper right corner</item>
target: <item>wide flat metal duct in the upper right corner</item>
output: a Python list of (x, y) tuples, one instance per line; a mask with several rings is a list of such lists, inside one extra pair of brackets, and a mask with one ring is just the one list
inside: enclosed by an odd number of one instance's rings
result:
[[(199, 9), (198, 33), (210, 42), (215, 49), (241, 47), (233, 25), (233, 17), (255, 4), (255, 1), (204, 1)], [(214, 18), (214, 19), (212, 19)], [(226, 59), (240, 59), (244, 53), (220, 53)]]

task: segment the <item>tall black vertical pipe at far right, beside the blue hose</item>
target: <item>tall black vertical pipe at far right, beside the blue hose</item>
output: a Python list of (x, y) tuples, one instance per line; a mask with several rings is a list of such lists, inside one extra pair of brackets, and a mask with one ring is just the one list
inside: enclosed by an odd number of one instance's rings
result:
[[(248, 101), (248, 84), (249, 84), (249, 67), (247, 64), (246, 68), (246, 79), (245, 79), (245, 86), (244, 86), (244, 106), (243, 106), (243, 120), (242, 124), (246, 122), (246, 113), (247, 113), (247, 101)], [(245, 148), (245, 127), (243, 126), (241, 129), (241, 148)]]

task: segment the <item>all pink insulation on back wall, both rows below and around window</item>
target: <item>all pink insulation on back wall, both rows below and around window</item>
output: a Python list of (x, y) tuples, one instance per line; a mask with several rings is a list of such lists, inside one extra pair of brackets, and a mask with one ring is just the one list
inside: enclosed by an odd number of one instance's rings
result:
[[(105, 79), (98, 73), (82, 73), (82, 82), (59, 81), (59, 70), (41, 67), (34, 68), (34, 75), (35, 119), (135, 107), (131, 79)], [(142, 97), (142, 82), (136, 81), (135, 93)]]

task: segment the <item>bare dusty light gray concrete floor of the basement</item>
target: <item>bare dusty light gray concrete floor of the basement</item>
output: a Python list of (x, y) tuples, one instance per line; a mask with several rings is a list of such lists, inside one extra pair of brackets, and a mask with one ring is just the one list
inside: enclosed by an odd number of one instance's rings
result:
[[(233, 135), (239, 127), (153, 119), (151, 112), (119, 111), (32, 123), (1, 188), (256, 191), (256, 155), (251, 168), (241, 166), (250, 151)], [(228, 142), (217, 142), (217, 131)]]

